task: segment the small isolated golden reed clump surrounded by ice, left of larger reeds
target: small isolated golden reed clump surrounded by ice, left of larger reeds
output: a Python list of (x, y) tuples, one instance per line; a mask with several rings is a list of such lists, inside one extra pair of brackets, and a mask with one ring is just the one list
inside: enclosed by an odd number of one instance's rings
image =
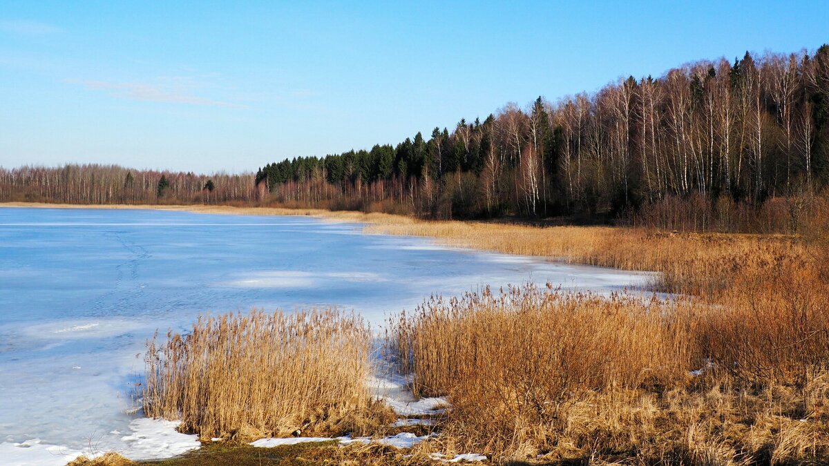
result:
[(370, 342), (333, 309), (201, 317), (148, 342), (144, 412), (202, 438), (361, 433), (383, 413), (365, 385)]

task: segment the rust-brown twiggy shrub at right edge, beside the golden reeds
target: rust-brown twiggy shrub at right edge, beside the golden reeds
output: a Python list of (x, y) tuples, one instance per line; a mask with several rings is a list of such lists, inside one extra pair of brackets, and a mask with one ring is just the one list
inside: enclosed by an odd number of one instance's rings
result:
[(697, 337), (740, 380), (806, 386), (829, 369), (829, 282), (803, 257), (750, 264), (697, 310)]

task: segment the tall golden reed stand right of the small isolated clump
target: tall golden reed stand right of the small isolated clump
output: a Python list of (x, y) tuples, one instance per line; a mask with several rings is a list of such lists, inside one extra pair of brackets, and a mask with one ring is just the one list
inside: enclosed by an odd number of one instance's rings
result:
[(526, 384), (527, 393), (543, 392), (545, 404), (535, 395), (524, 400), (540, 412), (555, 412), (556, 403), (577, 391), (667, 386), (700, 365), (693, 360), (698, 351), (691, 347), (695, 328), (686, 300), (669, 306), (526, 285), (447, 301), (433, 297), (392, 318), (389, 328), (390, 346), (402, 371), (413, 374), (416, 396), (443, 395), (462, 380), (497, 391), (506, 381), (478, 380), (497, 372)]

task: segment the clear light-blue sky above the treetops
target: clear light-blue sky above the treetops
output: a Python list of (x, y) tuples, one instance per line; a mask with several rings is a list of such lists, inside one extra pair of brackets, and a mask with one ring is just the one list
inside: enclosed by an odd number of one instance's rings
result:
[(236, 3), (2, 0), (0, 166), (243, 172), (829, 42), (827, 2)]

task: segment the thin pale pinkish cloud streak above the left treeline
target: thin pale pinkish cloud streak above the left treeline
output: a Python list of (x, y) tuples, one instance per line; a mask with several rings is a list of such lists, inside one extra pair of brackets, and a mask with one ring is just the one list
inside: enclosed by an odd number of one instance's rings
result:
[(70, 80), (69, 82), (83, 85), (90, 90), (109, 91), (110, 95), (123, 99), (166, 102), (170, 104), (209, 105), (230, 107), (235, 109), (245, 108), (245, 105), (234, 104), (232, 102), (225, 102), (222, 100), (212, 100), (199, 95), (194, 95), (191, 90), (188, 89), (171, 89), (164, 85), (158, 84), (141, 82), (112, 82), (104, 80)]

